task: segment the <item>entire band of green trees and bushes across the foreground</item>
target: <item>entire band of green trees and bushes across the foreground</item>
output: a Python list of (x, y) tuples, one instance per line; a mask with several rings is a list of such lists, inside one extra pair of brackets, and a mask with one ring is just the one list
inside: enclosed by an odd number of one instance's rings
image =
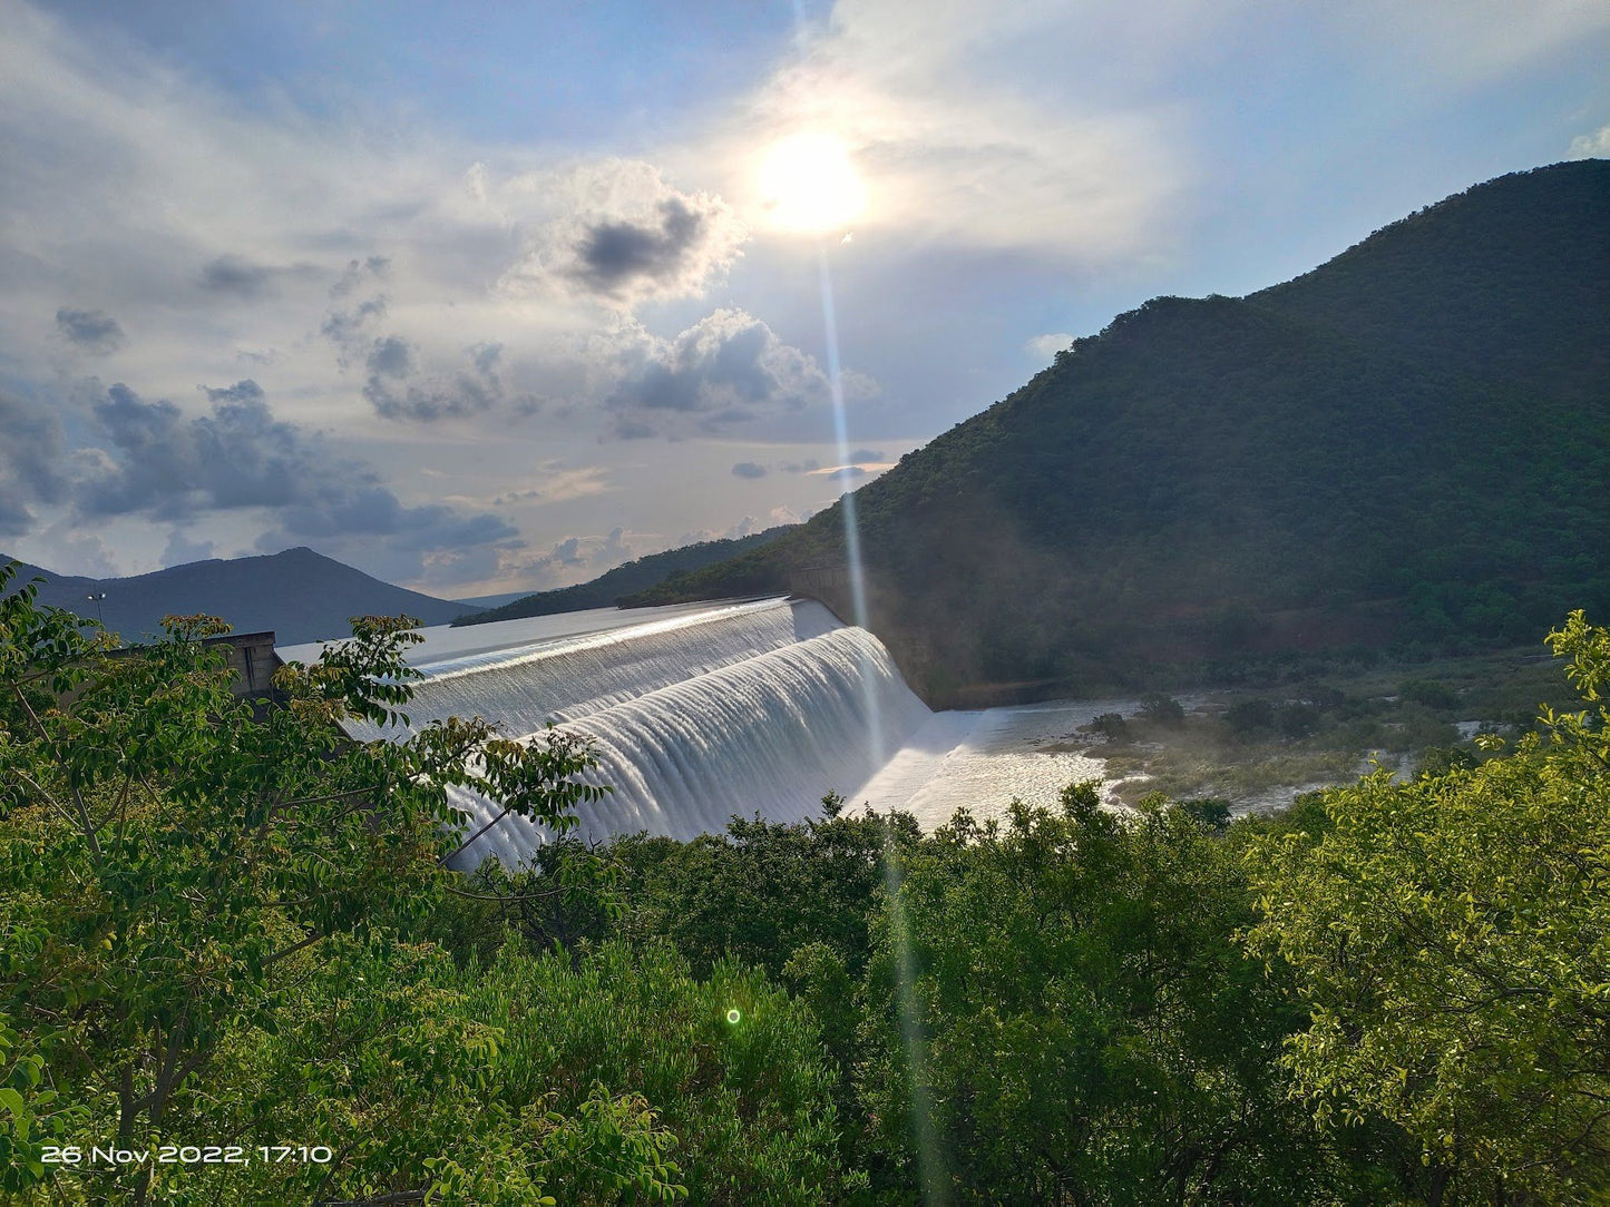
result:
[[(201, 632), (109, 657), (0, 602), (11, 1201), (1610, 1193), (1610, 634), (1579, 615), (1583, 713), (1274, 821), (1074, 785), (924, 837), (831, 800), (478, 877), (441, 871), (444, 785), (562, 830), (584, 748), (336, 740), (406, 705), (396, 623), (261, 715)], [(164, 1143), (327, 1152), (43, 1162)]]

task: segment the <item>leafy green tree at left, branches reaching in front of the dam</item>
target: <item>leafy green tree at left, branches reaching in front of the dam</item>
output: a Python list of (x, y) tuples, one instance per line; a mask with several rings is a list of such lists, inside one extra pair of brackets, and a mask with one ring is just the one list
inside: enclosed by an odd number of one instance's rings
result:
[[(74, 1085), (119, 1146), (167, 1135), (227, 1044), (285, 1024), (312, 948), (361, 946), (462, 892), (443, 869), (462, 821), (449, 785), (560, 830), (601, 792), (559, 732), (520, 744), (449, 719), (346, 740), (343, 718), (407, 702), (407, 618), (354, 620), (351, 642), (275, 676), (285, 702), (259, 716), (203, 644), (221, 623), (171, 616), (166, 639), (114, 652), (35, 592), (0, 599), (0, 1015), (6, 1046)], [(0, 1104), (19, 1167), (48, 1178), (26, 1104)], [(142, 1202), (153, 1168), (103, 1181)]]

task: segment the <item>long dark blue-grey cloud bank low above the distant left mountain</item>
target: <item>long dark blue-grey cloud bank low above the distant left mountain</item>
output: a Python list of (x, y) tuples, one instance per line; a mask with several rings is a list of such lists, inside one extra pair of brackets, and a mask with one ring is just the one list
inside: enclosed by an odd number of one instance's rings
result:
[(489, 513), (404, 505), (362, 462), (275, 420), (256, 381), (206, 396), (211, 414), (187, 418), (166, 399), (148, 402), (121, 383), (108, 389), (93, 412), (113, 447), (79, 457), (79, 515), (184, 523), (209, 510), (261, 507), (274, 526), (259, 549), (359, 542), (372, 560), (390, 558), (399, 576), (419, 576), (435, 555), (451, 560), (452, 550), (518, 536)]

